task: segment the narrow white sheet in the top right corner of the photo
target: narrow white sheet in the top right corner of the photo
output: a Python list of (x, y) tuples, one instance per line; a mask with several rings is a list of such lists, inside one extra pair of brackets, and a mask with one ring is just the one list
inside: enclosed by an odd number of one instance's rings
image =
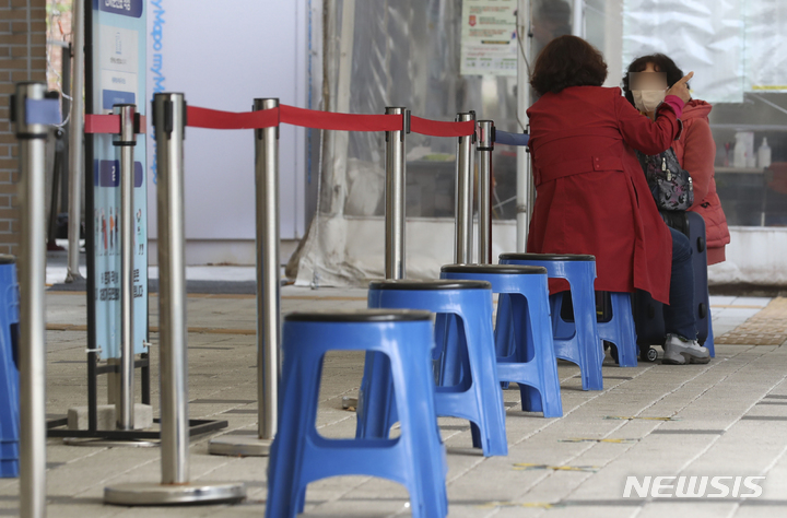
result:
[(787, 2), (745, 2), (745, 89), (787, 92)]

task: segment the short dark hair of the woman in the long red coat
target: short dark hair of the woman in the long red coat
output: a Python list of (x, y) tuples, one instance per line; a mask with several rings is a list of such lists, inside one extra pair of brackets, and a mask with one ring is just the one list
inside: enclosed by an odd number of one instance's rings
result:
[(607, 62), (596, 47), (576, 36), (561, 36), (536, 59), (530, 84), (539, 95), (560, 93), (569, 86), (601, 86)]

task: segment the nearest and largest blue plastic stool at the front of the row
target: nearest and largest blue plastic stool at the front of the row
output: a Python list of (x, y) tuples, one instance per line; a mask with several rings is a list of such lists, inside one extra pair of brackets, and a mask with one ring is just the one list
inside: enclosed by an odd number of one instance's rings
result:
[[(315, 311), (284, 318), (279, 429), (268, 464), (266, 517), (295, 517), (304, 509), (307, 484), (341, 475), (399, 482), (410, 493), (413, 517), (448, 514), (445, 448), (434, 409), (433, 345), (432, 315), (426, 311)], [(317, 433), (322, 360), (337, 350), (388, 356), (400, 437), (328, 439)]]

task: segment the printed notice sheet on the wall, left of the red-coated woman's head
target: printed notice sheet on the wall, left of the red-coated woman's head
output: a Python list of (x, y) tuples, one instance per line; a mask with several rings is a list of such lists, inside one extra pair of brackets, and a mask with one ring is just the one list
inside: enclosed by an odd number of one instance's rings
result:
[(462, 0), (461, 74), (517, 74), (517, 0)]

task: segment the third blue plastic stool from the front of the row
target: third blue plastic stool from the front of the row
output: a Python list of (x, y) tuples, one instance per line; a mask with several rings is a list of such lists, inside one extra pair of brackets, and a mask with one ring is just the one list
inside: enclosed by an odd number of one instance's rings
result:
[[(522, 410), (563, 416), (557, 361), (549, 317), (547, 270), (501, 264), (448, 264), (441, 278), (486, 281), (505, 294), (507, 316), (497, 310), (497, 376), (519, 385)], [(501, 295), (503, 296), (503, 295)], [(500, 304), (500, 303), (498, 303)]]

